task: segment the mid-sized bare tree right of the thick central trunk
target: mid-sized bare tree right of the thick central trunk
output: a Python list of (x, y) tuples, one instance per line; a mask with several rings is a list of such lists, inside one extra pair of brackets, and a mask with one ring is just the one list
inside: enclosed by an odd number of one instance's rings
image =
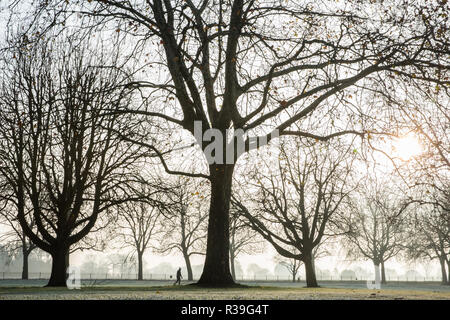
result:
[(266, 163), (266, 172), (256, 171), (248, 183), (246, 188), (254, 191), (245, 198), (253, 200), (232, 200), (281, 256), (304, 263), (308, 287), (318, 286), (314, 249), (338, 232), (333, 227), (354, 188), (349, 182), (356, 156), (352, 150), (345, 144), (335, 148), (327, 142), (284, 141), (277, 163)]

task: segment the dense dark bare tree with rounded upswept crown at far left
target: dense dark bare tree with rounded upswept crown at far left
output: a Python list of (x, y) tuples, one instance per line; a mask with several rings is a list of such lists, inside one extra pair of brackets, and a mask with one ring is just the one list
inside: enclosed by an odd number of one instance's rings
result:
[(96, 67), (100, 50), (69, 35), (13, 45), (0, 84), (0, 175), (24, 234), (52, 256), (48, 286), (66, 286), (71, 247), (130, 198), (142, 153), (111, 130), (132, 124), (103, 114), (130, 99), (120, 72)]

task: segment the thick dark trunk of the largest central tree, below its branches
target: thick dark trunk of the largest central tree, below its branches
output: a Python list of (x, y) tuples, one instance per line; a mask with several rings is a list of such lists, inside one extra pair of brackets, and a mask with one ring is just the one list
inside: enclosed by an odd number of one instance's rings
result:
[(229, 208), (234, 165), (211, 165), (211, 203), (205, 266), (198, 281), (202, 286), (233, 286), (230, 272)]

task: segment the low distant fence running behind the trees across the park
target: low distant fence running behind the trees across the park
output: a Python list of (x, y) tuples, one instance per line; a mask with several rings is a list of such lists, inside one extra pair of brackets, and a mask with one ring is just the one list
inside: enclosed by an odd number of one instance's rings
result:
[[(0, 280), (15, 280), (21, 279), (21, 272), (2, 272), (0, 271)], [(343, 277), (343, 276), (316, 276), (318, 281), (367, 281), (373, 280), (372, 278), (365, 277)], [(49, 272), (29, 272), (28, 279), (30, 280), (48, 280), (50, 279)], [(137, 280), (137, 273), (81, 273), (82, 280)], [(173, 274), (157, 274), (157, 273), (144, 273), (143, 280), (156, 280), (156, 281), (168, 281), (175, 280), (175, 275)], [(184, 280), (187, 280), (184, 278)], [(194, 276), (194, 280), (198, 280), (198, 277)], [(272, 282), (293, 282), (292, 276), (239, 276), (237, 277), (238, 281), (272, 281)], [(296, 281), (304, 281), (304, 276), (297, 277)], [(423, 277), (423, 276), (415, 276), (415, 277), (406, 277), (406, 276), (395, 276), (395, 277), (386, 277), (388, 282), (434, 282), (441, 281), (439, 277)]]

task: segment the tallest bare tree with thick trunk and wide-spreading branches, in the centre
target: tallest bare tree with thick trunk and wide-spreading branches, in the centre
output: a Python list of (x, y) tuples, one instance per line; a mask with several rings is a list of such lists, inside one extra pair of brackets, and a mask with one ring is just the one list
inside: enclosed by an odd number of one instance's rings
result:
[[(192, 135), (196, 121), (201, 136), (208, 129), (222, 136), (242, 129), (267, 140), (273, 129), (320, 140), (363, 134), (374, 128), (358, 118), (377, 115), (365, 108), (364, 97), (380, 78), (449, 83), (437, 75), (449, 69), (447, 1), (37, 2), (34, 34), (36, 28), (41, 34), (49, 26), (82, 25), (89, 36), (119, 35), (129, 50), (118, 60), (143, 71), (130, 87), (140, 90), (144, 103), (123, 111), (157, 117)], [(293, 129), (295, 123), (300, 126)], [(199, 144), (208, 155), (206, 137)], [(248, 136), (245, 141), (247, 151), (252, 144)], [(165, 150), (138, 142), (164, 160)], [(237, 159), (225, 145), (216, 155)], [(234, 283), (228, 261), (235, 162), (223, 159), (210, 161), (208, 173), (189, 174), (211, 181), (203, 285)]]

